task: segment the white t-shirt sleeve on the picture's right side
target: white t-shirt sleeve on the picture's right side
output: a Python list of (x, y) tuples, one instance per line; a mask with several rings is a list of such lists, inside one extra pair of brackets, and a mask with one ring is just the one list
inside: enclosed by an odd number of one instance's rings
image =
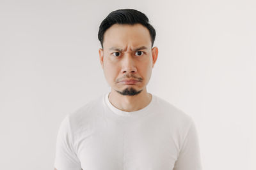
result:
[(173, 170), (202, 170), (198, 135), (192, 119)]

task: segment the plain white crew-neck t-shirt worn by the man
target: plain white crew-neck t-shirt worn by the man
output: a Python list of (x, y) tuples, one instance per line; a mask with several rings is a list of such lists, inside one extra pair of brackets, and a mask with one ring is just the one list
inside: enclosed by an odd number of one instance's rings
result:
[(188, 115), (152, 95), (145, 108), (118, 110), (103, 94), (61, 122), (58, 170), (201, 170), (196, 127)]

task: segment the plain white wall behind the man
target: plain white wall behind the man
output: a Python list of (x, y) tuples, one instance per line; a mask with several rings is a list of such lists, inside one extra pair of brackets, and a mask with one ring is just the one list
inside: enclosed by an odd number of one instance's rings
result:
[(121, 8), (155, 27), (148, 92), (193, 117), (204, 169), (256, 169), (253, 0), (1, 0), (0, 169), (53, 169), (60, 122), (109, 90), (97, 32)]

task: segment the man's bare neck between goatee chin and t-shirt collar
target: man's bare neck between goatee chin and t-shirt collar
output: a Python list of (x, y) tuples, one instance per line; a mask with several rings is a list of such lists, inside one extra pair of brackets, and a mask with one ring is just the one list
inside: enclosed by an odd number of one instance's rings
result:
[(123, 96), (113, 89), (111, 89), (109, 93), (110, 103), (119, 110), (127, 112), (141, 110), (145, 108), (151, 100), (152, 94), (149, 94), (146, 88), (135, 96)]

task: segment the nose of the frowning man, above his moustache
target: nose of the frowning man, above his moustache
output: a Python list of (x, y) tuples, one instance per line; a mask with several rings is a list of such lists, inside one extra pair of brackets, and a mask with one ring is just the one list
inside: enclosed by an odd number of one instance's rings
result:
[(136, 73), (136, 65), (130, 53), (125, 53), (122, 62), (122, 73)]

